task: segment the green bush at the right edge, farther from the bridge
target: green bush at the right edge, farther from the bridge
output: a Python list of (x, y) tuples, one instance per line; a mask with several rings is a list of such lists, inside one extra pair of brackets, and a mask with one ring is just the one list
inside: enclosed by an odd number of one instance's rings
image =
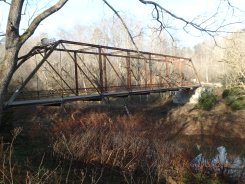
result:
[(232, 110), (245, 109), (245, 91), (241, 88), (225, 89), (222, 97)]

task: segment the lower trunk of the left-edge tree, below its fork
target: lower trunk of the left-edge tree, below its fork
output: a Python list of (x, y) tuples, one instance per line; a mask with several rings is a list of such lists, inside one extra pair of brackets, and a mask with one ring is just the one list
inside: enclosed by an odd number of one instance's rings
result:
[(2, 125), (2, 116), (4, 102), (10, 80), (14, 74), (16, 61), (18, 58), (20, 46), (13, 46), (5, 50), (5, 57), (0, 61), (0, 126)]

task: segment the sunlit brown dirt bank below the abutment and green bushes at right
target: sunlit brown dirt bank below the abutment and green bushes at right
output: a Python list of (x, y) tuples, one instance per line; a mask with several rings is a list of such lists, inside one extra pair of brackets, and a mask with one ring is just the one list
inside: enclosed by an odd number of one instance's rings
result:
[(184, 105), (168, 112), (167, 122), (182, 124), (181, 134), (245, 139), (245, 110), (232, 111), (220, 102), (211, 111)]

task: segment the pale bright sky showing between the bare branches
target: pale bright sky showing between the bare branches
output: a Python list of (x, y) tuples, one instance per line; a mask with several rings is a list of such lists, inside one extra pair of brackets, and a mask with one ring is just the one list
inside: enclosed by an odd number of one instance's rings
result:
[[(27, 27), (28, 16), (31, 16), (32, 12), (38, 9), (45, 8), (44, 2), (49, 2), (50, 0), (34, 0), (36, 2), (32, 4), (31, 11), (26, 12), (26, 15), (23, 16), (22, 27)], [(56, 2), (57, 0), (52, 0)], [(144, 27), (147, 27), (149, 24), (153, 24), (151, 17), (152, 6), (146, 6), (141, 4), (138, 0), (108, 0), (108, 2), (113, 5), (113, 7), (119, 11), (119, 13), (124, 16), (127, 15), (133, 19), (136, 19), (143, 24)], [(171, 10), (174, 14), (184, 17), (187, 20), (193, 20), (198, 18), (198, 21), (201, 22), (202, 19), (209, 17), (210, 15), (216, 12), (216, 9), (219, 5), (219, 0), (157, 0), (159, 4), (165, 7), (168, 10)], [(234, 6), (245, 9), (244, 0), (230, 0)], [(44, 3), (44, 4), (42, 4)], [(8, 15), (9, 6), (3, 2), (0, 2), (0, 31), (4, 32), (7, 15)], [(220, 17), (225, 17), (227, 12), (226, 6), (221, 6), (220, 8)], [(232, 11), (230, 11), (232, 12)], [(29, 15), (28, 15), (29, 14)], [(227, 15), (227, 20), (237, 21), (244, 18), (245, 15), (242, 15), (243, 12), (237, 11), (235, 15), (240, 18), (235, 17), (232, 14)], [(199, 16), (202, 15), (202, 16)], [(242, 16), (241, 16), (242, 15)], [(102, 2), (102, 0), (69, 0), (68, 3), (57, 13), (51, 15), (48, 19), (42, 22), (41, 26), (38, 28), (37, 33), (47, 32), (52, 36), (56, 36), (55, 33), (59, 28), (64, 30), (71, 30), (75, 25), (92, 25), (99, 23), (102, 19), (110, 18), (113, 16), (113, 12), (108, 9), (108, 7)], [(199, 17), (198, 17), (199, 16)], [(182, 45), (192, 46), (206, 37), (195, 37), (200, 36), (201, 34), (191, 30), (192, 34), (195, 36), (190, 36), (184, 33), (181, 28), (183, 24), (180, 22), (174, 22), (172, 19), (167, 18), (171, 26), (177, 27), (180, 30), (174, 31), (174, 35), (178, 40), (181, 41)], [(213, 22), (208, 22), (211, 24)], [(232, 26), (233, 29), (242, 28), (243, 25)]]

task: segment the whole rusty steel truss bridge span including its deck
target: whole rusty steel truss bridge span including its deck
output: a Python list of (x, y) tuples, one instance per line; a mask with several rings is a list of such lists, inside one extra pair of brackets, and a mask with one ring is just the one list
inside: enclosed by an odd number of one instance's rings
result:
[(6, 108), (200, 86), (189, 58), (66, 40), (32, 48), (15, 73)]

